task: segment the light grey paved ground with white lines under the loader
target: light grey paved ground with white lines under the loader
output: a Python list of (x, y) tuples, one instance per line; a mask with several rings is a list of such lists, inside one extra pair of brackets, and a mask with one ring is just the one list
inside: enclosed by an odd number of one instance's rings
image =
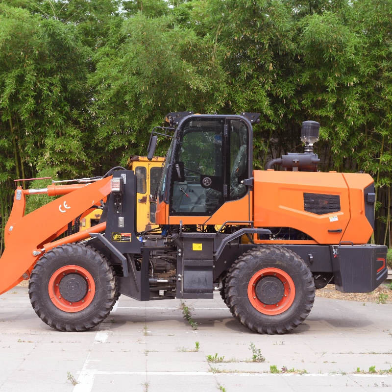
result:
[[(317, 297), (291, 333), (258, 335), (232, 317), (218, 293), (186, 300), (197, 330), (179, 300), (122, 295), (98, 327), (66, 333), (36, 316), (26, 288), (11, 293), (0, 296), (1, 392), (392, 390), (392, 371), (356, 372), (391, 368), (392, 304)], [(265, 361), (253, 362), (255, 354)], [(272, 374), (271, 367), (300, 373)]]

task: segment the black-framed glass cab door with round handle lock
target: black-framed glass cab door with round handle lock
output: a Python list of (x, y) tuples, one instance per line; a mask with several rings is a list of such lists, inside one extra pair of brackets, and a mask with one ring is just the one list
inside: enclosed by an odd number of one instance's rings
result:
[(184, 124), (172, 165), (170, 215), (211, 216), (225, 202), (224, 129), (224, 118)]

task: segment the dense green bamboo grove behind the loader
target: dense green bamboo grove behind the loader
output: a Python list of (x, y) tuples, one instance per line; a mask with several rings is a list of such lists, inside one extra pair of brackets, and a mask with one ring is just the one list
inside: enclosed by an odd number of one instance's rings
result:
[(124, 165), (177, 110), (260, 112), (257, 169), (318, 121), (320, 170), (373, 176), (391, 247), (391, 31), (392, 0), (2, 0), (0, 252), (14, 179)]

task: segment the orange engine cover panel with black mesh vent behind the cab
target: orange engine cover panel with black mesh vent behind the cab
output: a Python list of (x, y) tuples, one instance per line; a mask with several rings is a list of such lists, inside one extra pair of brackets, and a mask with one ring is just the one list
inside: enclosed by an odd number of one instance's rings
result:
[(373, 181), (368, 174), (254, 171), (253, 176), (255, 227), (293, 227), (318, 244), (368, 242), (363, 198)]

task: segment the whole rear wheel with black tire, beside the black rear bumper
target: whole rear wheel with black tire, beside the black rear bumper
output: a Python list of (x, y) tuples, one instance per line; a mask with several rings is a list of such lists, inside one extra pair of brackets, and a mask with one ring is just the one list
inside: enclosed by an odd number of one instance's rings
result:
[(315, 284), (305, 262), (280, 246), (253, 248), (226, 277), (225, 297), (233, 316), (261, 334), (292, 331), (309, 315)]

